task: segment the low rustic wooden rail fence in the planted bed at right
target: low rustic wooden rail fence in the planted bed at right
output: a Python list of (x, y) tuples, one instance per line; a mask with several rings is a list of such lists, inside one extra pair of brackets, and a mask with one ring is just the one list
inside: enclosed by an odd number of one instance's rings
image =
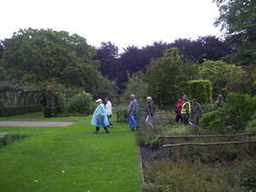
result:
[[(182, 143), (182, 144), (172, 144), (172, 138), (223, 138), (223, 137), (236, 137), (246, 135), (245, 141), (234, 141), (234, 142), (217, 142), (217, 143)], [(172, 147), (178, 147), (178, 155), (177, 158), (181, 159), (183, 156), (183, 146), (186, 145), (197, 145), (197, 146), (207, 146), (207, 145), (223, 145), (223, 144), (246, 144), (246, 152), (247, 155), (250, 155), (250, 144), (256, 143), (256, 141), (252, 141), (253, 133), (240, 133), (240, 134), (225, 134), (225, 135), (188, 135), (188, 136), (158, 136), (155, 140), (159, 140), (160, 138), (167, 138), (167, 144), (163, 144), (163, 148), (167, 148), (167, 155), (170, 158), (172, 156)]]

